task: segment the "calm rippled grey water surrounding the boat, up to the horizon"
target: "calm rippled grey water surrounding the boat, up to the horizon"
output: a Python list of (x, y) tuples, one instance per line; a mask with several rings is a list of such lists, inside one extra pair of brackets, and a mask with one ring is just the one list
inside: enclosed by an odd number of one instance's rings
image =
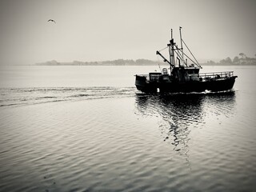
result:
[(222, 93), (136, 89), (160, 69), (1, 66), (0, 191), (256, 191), (256, 66), (203, 66), (238, 76)]

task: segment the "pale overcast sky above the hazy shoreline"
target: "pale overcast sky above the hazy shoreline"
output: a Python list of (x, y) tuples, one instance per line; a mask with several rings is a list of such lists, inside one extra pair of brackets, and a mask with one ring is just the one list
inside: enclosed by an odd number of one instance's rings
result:
[(158, 60), (179, 26), (199, 60), (255, 57), (254, 0), (0, 0), (0, 65)]

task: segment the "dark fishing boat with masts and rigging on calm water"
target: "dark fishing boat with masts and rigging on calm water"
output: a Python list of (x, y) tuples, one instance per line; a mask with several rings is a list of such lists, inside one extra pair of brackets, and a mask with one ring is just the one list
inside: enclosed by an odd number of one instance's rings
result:
[[(170, 43), (168, 49), (169, 57), (165, 58), (162, 50), (157, 50), (164, 62), (169, 63), (170, 68), (163, 68), (161, 72), (151, 72), (149, 74), (136, 74), (135, 86), (145, 93), (190, 93), (190, 92), (218, 92), (231, 90), (234, 86), (235, 78), (233, 71), (223, 71), (214, 73), (199, 73), (202, 66), (198, 63), (194, 54), (190, 51), (182, 39), (182, 27), (179, 27), (181, 46), (174, 42), (173, 30), (171, 30)], [(190, 54), (186, 54), (183, 45)], [(164, 50), (164, 49), (163, 49)], [(190, 64), (188, 64), (188, 60)]]

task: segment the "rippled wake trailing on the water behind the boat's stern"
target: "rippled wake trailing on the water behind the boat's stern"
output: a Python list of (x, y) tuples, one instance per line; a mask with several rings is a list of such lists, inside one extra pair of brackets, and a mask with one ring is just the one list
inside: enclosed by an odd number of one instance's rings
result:
[(134, 87), (2, 88), (0, 107), (134, 96)]

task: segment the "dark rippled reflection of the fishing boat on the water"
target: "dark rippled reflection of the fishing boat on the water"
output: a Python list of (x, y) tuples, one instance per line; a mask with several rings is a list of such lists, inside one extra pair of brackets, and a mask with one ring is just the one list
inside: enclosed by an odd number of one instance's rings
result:
[(220, 115), (229, 118), (234, 114), (235, 93), (137, 94), (136, 105), (140, 115), (159, 117), (163, 140), (186, 154), (188, 142), (193, 139), (191, 130), (204, 128)]

